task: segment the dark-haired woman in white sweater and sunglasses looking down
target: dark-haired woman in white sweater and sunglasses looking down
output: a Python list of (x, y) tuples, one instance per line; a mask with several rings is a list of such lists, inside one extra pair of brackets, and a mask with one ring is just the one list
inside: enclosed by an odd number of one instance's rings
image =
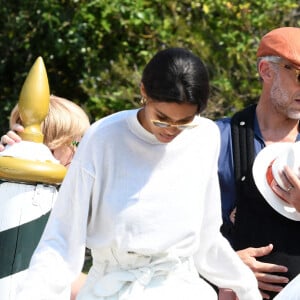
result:
[(160, 51), (140, 91), (142, 108), (97, 121), (81, 140), (18, 300), (67, 299), (85, 247), (93, 265), (80, 300), (217, 299), (199, 273), (261, 299), (219, 231), (220, 137), (199, 116), (209, 94), (202, 61)]

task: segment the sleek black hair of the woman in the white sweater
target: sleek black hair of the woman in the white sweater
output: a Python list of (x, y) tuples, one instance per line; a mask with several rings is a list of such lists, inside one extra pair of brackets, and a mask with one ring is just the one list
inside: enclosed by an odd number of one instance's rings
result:
[(190, 103), (202, 112), (208, 101), (208, 72), (202, 60), (183, 48), (162, 50), (146, 65), (142, 83), (154, 101)]

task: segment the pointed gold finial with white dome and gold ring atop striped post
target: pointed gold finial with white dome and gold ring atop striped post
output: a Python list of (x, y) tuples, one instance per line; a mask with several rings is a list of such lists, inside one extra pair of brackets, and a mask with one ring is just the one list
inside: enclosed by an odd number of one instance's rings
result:
[(15, 182), (60, 184), (66, 168), (43, 144), (41, 123), (49, 111), (50, 92), (41, 57), (31, 67), (23, 84), (18, 107), (24, 125), (22, 141), (0, 152), (0, 178)]

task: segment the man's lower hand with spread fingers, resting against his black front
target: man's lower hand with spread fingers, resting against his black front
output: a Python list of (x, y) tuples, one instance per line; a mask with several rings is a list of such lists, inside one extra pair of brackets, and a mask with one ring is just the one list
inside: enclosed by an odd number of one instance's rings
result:
[[(268, 255), (273, 250), (273, 245), (269, 244), (266, 247), (247, 248), (237, 251), (241, 260), (253, 271), (258, 281), (258, 287), (264, 299), (269, 299), (270, 296), (265, 291), (280, 292), (283, 287), (282, 283), (287, 283), (287, 277), (273, 275), (270, 273), (285, 273), (287, 267), (270, 263), (263, 263), (256, 260), (257, 257)], [(263, 290), (263, 291), (262, 291)]]

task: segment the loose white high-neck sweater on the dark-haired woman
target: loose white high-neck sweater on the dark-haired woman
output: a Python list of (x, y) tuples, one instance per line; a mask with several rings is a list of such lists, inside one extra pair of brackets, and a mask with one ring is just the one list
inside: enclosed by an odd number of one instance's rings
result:
[(137, 112), (99, 120), (82, 139), (18, 299), (63, 299), (55, 295), (80, 272), (86, 246), (193, 257), (215, 285), (261, 299), (254, 275), (219, 232), (218, 128), (199, 118), (165, 144)]

